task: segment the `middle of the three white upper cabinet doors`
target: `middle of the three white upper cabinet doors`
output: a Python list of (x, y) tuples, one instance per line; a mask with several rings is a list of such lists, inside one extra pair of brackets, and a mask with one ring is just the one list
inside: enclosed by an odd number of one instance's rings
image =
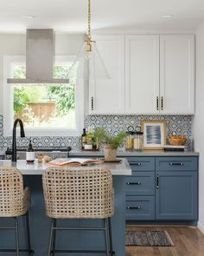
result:
[(159, 36), (125, 37), (125, 112), (158, 113)]

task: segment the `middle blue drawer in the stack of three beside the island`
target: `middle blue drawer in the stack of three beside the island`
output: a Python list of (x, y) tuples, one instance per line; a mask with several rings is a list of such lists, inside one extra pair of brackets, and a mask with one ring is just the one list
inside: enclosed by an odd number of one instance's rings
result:
[(155, 194), (155, 173), (135, 172), (128, 176), (125, 184), (126, 195), (154, 195)]

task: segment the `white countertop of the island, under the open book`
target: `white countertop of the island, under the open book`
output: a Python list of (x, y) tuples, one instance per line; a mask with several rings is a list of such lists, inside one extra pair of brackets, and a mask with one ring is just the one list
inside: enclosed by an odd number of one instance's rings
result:
[[(51, 166), (38, 163), (37, 161), (34, 164), (27, 164), (25, 160), (18, 160), (16, 163), (9, 160), (2, 160), (0, 161), (0, 167), (17, 167), (23, 175), (41, 175), (46, 168)], [(131, 175), (131, 167), (126, 159), (122, 159), (117, 163), (97, 164), (97, 167), (109, 168), (112, 175)]]

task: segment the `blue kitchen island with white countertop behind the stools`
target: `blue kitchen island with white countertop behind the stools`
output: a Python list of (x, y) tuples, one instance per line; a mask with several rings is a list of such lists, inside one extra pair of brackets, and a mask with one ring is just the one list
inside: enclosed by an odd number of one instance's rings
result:
[[(24, 185), (30, 187), (31, 190), (31, 207), (29, 209), (30, 216), (30, 232), (31, 245), (37, 256), (45, 256), (48, 253), (48, 240), (50, 231), (50, 219), (45, 214), (45, 206), (42, 194), (41, 174), (49, 167), (46, 164), (27, 164), (26, 161), (0, 161), (0, 167), (17, 167), (23, 174)], [(110, 168), (113, 175), (114, 187), (114, 207), (115, 213), (112, 216), (112, 240), (113, 248), (117, 256), (124, 256), (124, 233), (125, 233), (125, 176), (131, 175), (131, 167), (126, 159), (118, 163), (102, 163), (97, 165)], [(0, 226), (12, 225), (13, 220), (1, 219)], [(26, 237), (24, 233), (24, 219), (19, 218), (20, 245), (26, 247)], [(58, 220), (60, 226), (100, 226), (101, 220)], [(15, 237), (10, 231), (2, 231), (0, 239), (0, 247), (13, 248)], [(4, 234), (4, 235), (3, 235)], [(91, 249), (104, 250), (105, 236), (104, 233), (83, 231), (83, 232), (65, 232), (58, 231), (56, 237), (56, 249)], [(11, 254), (7, 254), (11, 255)], [(57, 255), (65, 255), (57, 253)], [(69, 253), (70, 256), (78, 254)], [(90, 256), (88, 254), (84, 254)], [(92, 254), (94, 255), (94, 254)], [(96, 254), (97, 256), (99, 254)], [(80, 254), (79, 254), (80, 256)]]

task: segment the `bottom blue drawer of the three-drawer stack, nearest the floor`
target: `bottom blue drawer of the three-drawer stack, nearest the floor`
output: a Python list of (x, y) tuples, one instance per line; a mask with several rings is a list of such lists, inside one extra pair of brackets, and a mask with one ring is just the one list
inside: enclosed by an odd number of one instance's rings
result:
[(126, 196), (126, 220), (155, 220), (154, 196)]

